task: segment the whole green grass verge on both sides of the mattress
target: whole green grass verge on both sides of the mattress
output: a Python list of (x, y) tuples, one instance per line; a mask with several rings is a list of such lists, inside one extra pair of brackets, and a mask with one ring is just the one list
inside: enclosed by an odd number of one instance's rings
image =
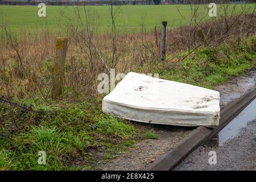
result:
[[(187, 52), (180, 52), (183, 57)], [(167, 66), (163, 68), (162, 64)], [(228, 39), (214, 48), (200, 48), (177, 63), (152, 65), (160, 77), (213, 88), (230, 76), (256, 67), (256, 36)], [(0, 170), (97, 169), (129, 150), (140, 139), (158, 139), (139, 124), (101, 112), (102, 97), (79, 104), (22, 98), (34, 112), (0, 106)], [(38, 152), (46, 152), (46, 165), (38, 164)]]

